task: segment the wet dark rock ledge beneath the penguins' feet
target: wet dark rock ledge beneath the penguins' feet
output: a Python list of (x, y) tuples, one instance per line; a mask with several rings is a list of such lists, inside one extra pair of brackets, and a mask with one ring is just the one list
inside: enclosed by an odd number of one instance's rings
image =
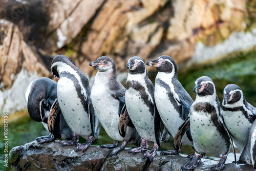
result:
[[(75, 146), (63, 146), (58, 141), (39, 145), (36, 141), (11, 149), (8, 167), (12, 170), (181, 170), (188, 161), (185, 155), (158, 155), (152, 162), (142, 154), (131, 155), (125, 148), (116, 157), (108, 157), (111, 149), (91, 145), (85, 153), (75, 152)], [(195, 169), (210, 170), (217, 161), (202, 159)], [(225, 170), (253, 170), (251, 165), (228, 163)]]

